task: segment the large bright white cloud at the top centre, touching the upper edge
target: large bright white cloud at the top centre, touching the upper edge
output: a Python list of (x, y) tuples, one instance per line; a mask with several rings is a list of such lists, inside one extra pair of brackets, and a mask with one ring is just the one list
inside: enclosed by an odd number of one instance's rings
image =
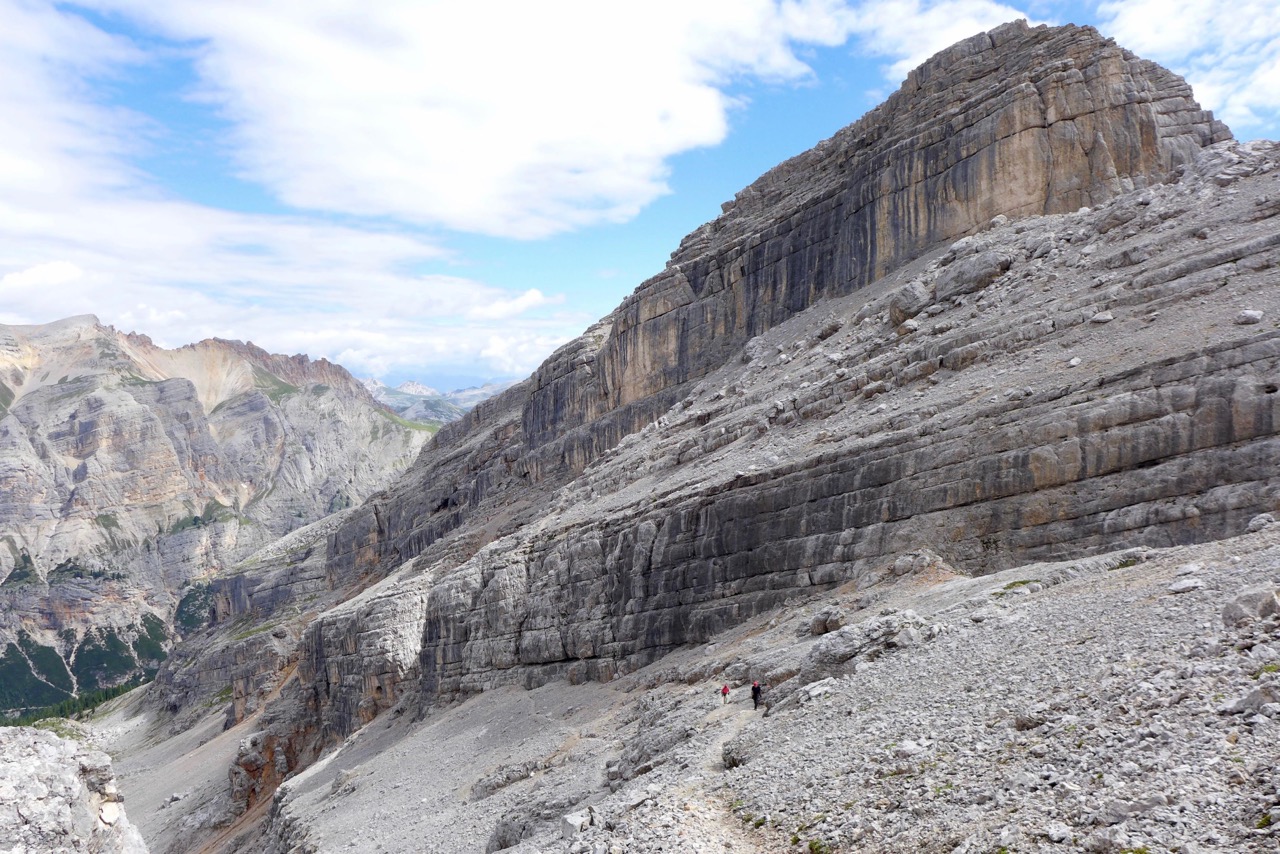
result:
[(837, 0), (92, 0), (198, 44), (238, 161), (289, 205), (508, 237), (621, 222), (721, 142), (737, 76), (797, 79)]

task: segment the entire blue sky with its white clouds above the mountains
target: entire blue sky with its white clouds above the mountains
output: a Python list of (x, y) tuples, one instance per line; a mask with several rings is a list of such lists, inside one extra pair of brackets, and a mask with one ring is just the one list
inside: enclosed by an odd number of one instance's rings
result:
[(906, 70), (1089, 23), (1276, 138), (1272, 0), (0, 0), (0, 323), (527, 375)]

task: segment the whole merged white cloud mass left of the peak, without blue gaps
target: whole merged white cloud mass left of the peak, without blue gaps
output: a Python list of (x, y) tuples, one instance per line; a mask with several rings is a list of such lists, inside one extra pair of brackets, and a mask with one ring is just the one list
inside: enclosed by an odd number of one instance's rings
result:
[[(0, 136), (3, 319), (527, 373), (594, 318), (422, 275), (448, 229), (635, 215), (673, 154), (723, 140), (733, 82), (803, 79), (797, 49), (850, 27), (837, 0), (0, 0), (0, 122), (22, 131)], [(157, 54), (186, 58), (219, 151), (292, 213), (191, 204), (138, 168), (172, 129), (110, 91)]]

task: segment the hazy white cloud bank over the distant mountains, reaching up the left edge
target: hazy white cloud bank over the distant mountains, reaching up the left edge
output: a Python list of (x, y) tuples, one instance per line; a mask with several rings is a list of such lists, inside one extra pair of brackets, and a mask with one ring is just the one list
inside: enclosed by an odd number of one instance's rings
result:
[(526, 316), (554, 297), (421, 275), (448, 255), (411, 229), (166, 196), (129, 166), (150, 145), (150, 120), (95, 100), (104, 76), (143, 61), (65, 9), (0, 0), (0, 124), (10, 129), (0, 134), (0, 323), (96, 314), (164, 346), (218, 335), (369, 353), (352, 367), (497, 374), (513, 362), (484, 361), (492, 335), (526, 342), (525, 352), (589, 320)]

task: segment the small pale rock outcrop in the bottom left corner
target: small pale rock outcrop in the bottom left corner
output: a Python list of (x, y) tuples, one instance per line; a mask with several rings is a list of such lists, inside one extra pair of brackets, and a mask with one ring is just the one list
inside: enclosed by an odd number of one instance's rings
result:
[(111, 758), (31, 727), (0, 727), (0, 840), (13, 851), (147, 851)]

